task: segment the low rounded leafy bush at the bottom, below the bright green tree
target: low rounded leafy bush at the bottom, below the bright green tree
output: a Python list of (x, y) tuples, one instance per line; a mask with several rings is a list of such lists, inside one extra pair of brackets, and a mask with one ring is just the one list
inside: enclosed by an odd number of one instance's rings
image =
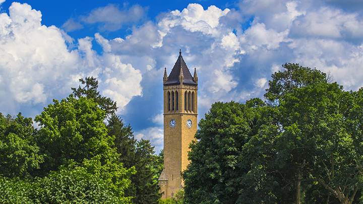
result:
[(35, 203), (129, 203), (130, 198), (118, 196), (109, 184), (83, 167), (61, 168), (37, 178), (29, 197)]

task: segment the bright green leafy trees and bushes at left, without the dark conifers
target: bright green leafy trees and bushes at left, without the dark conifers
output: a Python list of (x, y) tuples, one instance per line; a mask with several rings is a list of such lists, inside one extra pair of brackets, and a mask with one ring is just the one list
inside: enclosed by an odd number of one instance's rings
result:
[(82, 96), (54, 100), (36, 116), (38, 131), (21, 114), (0, 117), (0, 202), (129, 203), (124, 192), (135, 167), (118, 161), (104, 118), (105, 111)]

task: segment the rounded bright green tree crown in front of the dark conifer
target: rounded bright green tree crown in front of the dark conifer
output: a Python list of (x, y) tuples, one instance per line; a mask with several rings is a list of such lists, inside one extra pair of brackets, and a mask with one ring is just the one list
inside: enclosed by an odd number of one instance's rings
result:
[(97, 103), (85, 97), (53, 100), (53, 104), (44, 108), (35, 117), (40, 126), (35, 140), (45, 155), (37, 176), (56, 171), (69, 160), (82, 163), (84, 159), (109, 152), (114, 137), (107, 135), (104, 116)]

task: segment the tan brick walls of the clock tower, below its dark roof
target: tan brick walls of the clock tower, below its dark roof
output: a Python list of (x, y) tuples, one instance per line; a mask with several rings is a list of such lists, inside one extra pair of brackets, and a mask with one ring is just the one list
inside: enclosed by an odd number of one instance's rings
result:
[[(180, 172), (185, 170), (189, 164), (189, 144), (194, 139), (198, 127), (197, 90), (197, 86), (164, 86), (164, 168), (168, 177), (167, 186), (162, 187), (165, 197), (171, 197), (172, 193), (175, 195), (175, 192), (181, 188)], [(168, 110), (168, 91), (178, 92), (178, 110)], [(195, 93), (195, 110), (193, 112), (185, 111), (186, 91)], [(172, 119), (176, 122), (175, 127), (170, 126)], [(187, 126), (189, 119), (192, 121), (191, 127)]]

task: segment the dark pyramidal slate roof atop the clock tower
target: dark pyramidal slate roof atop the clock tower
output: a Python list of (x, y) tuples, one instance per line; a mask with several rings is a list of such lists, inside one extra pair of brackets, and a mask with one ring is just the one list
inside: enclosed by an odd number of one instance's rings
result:
[(193, 77), (189, 72), (188, 66), (185, 63), (183, 57), (181, 56), (181, 51), (179, 52), (179, 57), (176, 60), (175, 65), (170, 72), (167, 82), (164, 85), (180, 84), (179, 82), (180, 67), (183, 69), (184, 84), (197, 85), (197, 83), (193, 81)]

